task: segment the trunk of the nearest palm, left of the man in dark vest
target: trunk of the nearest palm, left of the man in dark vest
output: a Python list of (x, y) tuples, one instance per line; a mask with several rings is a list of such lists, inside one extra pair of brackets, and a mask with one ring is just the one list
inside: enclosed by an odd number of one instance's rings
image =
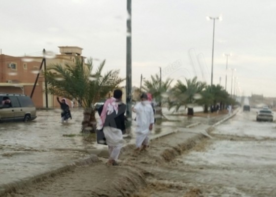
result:
[(96, 117), (95, 110), (92, 108), (86, 108), (83, 111), (82, 132), (96, 132)]

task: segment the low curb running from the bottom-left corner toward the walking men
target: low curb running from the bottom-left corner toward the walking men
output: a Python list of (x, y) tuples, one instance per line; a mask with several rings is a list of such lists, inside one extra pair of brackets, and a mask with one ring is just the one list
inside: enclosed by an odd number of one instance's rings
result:
[(60, 173), (69, 171), (70, 169), (74, 169), (76, 166), (92, 164), (92, 163), (96, 163), (98, 161), (99, 161), (99, 159), (96, 155), (90, 155), (86, 158), (78, 159), (78, 160), (72, 162), (71, 164), (67, 164), (67, 165), (59, 167), (55, 170), (49, 170), (42, 174), (38, 174), (35, 176), (29, 176), (29, 177), (26, 177), (23, 179), (12, 181), (10, 183), (0, 184), (0, 196), (3, 196), (6, 193), (11, 193), (11, 192), (15, 191), (16, 189), (24, 188), (28, 185), (35, 183), (35, 182), (41, 182), (48, 177), (55, 176), (56, 174), (60, 174)]

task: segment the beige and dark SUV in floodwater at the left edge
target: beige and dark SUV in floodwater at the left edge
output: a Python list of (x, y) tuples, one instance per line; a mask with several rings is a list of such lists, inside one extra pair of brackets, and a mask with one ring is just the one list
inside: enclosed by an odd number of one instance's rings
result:
[(29, 96), (0, 94), (0, 122), (29, 122), (35, 118), (35, 104)]

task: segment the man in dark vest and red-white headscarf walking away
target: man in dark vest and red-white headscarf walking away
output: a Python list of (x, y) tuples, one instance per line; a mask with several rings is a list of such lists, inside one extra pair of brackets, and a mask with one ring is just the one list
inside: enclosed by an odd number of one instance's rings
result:
[(122, 103), (122, 91), (114, 90), (113, 97), (104, 102), (98, 130), (103, 129), (108, 145), (109, 159), (107, 165), (118, 165), (117, 160), (124, 145), (126, 105)]

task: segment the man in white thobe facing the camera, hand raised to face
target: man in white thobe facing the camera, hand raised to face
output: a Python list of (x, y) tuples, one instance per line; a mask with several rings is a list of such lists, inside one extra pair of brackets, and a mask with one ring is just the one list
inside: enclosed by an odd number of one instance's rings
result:
[(147, 95), (141, 95), (141, 101), (138, 102), (132, 110), (137, 114), (136, 122), (136, 148), (145, 150), (149, 145), (149, 133), (154, 124), (154, 113), (150, 102), (147, 100)]

